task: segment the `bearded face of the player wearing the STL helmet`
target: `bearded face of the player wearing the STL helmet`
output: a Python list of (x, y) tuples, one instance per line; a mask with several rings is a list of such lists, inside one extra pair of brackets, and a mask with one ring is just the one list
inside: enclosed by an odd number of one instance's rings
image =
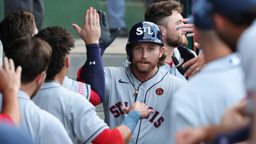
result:
[(163, 52), (160, 46), (152, 42), (138, 42), (132, 44), (132, 66), (140, 73), (147, 74), (157, 65)]

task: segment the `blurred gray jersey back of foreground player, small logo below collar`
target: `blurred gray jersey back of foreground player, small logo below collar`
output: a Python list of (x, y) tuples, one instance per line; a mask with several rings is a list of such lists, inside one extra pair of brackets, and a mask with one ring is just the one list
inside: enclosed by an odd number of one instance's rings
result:
[(237, 54), (209, 62), (200, 75), (189, 79), (188, 84), (173, 95), (172, 143), (180, 129), (219, 124), (225, 109), (245, 95), (244, 73)]

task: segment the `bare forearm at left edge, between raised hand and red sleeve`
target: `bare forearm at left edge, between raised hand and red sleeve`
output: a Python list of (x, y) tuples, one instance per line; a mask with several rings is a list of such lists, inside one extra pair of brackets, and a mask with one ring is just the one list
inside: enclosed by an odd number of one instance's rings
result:
[(18, 100), (18, 91), (10, 90), (3, 92), (2, 114), (10, 116), (15, 125), (20, 124), (20, 107)]

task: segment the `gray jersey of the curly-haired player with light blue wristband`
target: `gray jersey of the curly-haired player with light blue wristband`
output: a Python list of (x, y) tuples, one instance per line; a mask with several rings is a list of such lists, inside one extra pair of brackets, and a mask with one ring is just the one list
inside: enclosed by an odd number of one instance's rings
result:
[(45, 82), (33, 101), (59, 118), (76, 144), (90, 143), (109, 128), (84, 96), (67, 90), (57, 82)]

